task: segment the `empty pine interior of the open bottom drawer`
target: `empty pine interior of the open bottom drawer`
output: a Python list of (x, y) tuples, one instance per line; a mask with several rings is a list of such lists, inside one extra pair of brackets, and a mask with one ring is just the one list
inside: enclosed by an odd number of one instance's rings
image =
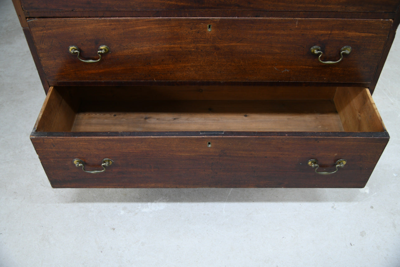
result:
[(383, 132), (368, 88), (51, 87), (36, 132)]

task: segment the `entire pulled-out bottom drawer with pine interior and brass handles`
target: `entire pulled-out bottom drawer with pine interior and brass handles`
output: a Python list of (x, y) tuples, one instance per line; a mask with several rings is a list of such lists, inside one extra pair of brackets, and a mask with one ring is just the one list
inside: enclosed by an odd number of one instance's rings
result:
[(367, 88), (51, 87), (31, 140), (52, 187), (364, 187), (389, 135)]

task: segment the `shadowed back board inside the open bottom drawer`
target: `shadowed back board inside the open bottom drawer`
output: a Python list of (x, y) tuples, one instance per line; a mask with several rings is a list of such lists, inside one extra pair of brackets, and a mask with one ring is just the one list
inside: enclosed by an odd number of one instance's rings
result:
[[(324, 86), (58, 86), (82, 101), (148, 100), (333, 100), (336, 87)], [(354, 88), (353, 88), (354, 89)], [(305, 93), (306, 91), (306, 93)]]

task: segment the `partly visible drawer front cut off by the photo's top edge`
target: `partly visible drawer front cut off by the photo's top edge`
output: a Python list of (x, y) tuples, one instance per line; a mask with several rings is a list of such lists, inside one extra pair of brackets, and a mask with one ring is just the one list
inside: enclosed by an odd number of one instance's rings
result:
[(104, 11), (104, 10), (268, 10), (268, 11), (342, 11), (342, 12), (396, 12), (398, 0), (21, 0), (25, 11)]

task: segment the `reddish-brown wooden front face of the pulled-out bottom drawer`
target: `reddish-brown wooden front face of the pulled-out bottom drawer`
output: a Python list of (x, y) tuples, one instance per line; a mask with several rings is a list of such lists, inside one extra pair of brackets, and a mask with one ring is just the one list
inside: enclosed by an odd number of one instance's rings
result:
[[(388, 138), (32, 137), (52, 187), (364, 187)], [(208, 145), (211, 142), (211, 146)], [(81, 159), (85, 173), (73, 164)], [(310, 159), (334, 171), (319, 175)], [(322, 169), (318, 171), (323, 171)]]

